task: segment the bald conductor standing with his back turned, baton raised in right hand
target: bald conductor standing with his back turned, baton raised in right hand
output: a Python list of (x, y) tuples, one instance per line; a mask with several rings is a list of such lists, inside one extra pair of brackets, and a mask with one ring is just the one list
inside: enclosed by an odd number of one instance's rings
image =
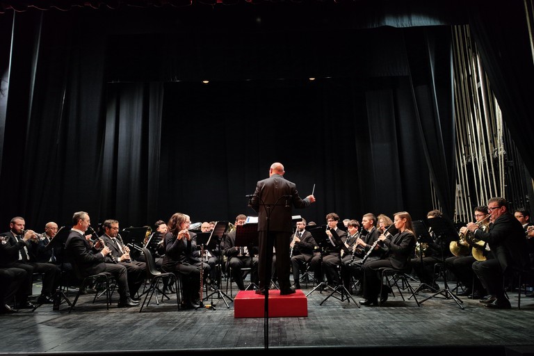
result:
[(302, 199), (296, 184), (284, 179), (284, 165), (273, 163), (269, 177), (258, 181), (249, 206), (258, 213), (259, 232), (259, 290), (264, 293), (270, 285), (273, 246), (276, 249), (276, 271), (280, 295), (295, 293), (289, 281), (289, 243), (291, 241), (292, 207), (309, 207), (315, 202), (313, 195)]

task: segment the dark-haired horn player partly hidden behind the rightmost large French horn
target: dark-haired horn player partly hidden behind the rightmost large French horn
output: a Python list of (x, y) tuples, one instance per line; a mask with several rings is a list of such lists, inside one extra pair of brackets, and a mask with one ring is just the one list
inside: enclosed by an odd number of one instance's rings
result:
[[(481, 205), (474, 209), (474, 217), (476, 223), (479, 225), (483, 223), (489, 223), (489, 213), (487, 212), (487, 206)], [(461, 234), (462, 229), (460, 229)], [(473, 263), (476, 261), (475, 257), (472, 254), (472, 247), (469, 245), (468, 241), (465, 238), (462, 241), (458, 241), (458, 244), (464, 246), (466, 254), (458, 255), (453, 257), (448, 257), (445, 259), (445, 266), (448, 270), (455, 275), (455, 277), (462, 283), (464, 286), (464, 291), (461, 293), (456, 293), (457, 296), (467, 296), (467, 298), (480, 299), (486, 295), (486, 290), (483, 284), (480, 282), (478, 277), (476, 277), (473, 271)], [(492, 298), (491, 301), (494, 301), (493, 297), (488, 297), (487, 299)]]

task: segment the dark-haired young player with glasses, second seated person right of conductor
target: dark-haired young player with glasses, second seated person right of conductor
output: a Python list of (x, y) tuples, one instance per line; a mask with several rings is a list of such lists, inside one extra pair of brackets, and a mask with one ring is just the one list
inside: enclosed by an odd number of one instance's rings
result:
[[(343, 243), (346, 242), (347, 239), (347, 233), (343, 230), (339, 229), (337, 227), (337, 223), (339, 222), (339, 215), (337, 213), (327, 213), (326, 214), (326, 223), (327, 223), (327, 236), (329, 238), (332, 237), (332, 234), (330, 233), (330, 229), (334, 229), (334, 231), (337, 233), (337, 236), (341, 238), (341, 241)], [(341, 247), (340, 246), (334, 246), (332, 243), (328, 245), (327, 248), (325, 248), (322, 251), (323, 254), (323, 262), (321, 262), (321, 254), (315, 254), (312, 258), (312, 261), (310, 261), (310, 268), (314, 270), (314, 274), (316, 277), (316, 280), (318, 282), (323, 282), (323, 272), (326, 275), (327, 284), (332, 287), (336, 287), (341, 283), (341, 279), (339, 277), (338, 268), (341, 266)]]

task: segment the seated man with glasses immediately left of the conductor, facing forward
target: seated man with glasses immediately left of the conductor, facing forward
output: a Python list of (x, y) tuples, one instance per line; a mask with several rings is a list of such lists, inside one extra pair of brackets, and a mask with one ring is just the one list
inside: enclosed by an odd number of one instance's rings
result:
[[(236, 227), (245, 225), (247, 216), (245, 214), (238, 214), (236, 216)], [(225, 256), (226, 270), (232, 268), (232, 277), (240, 291), (245, 290), (245, 283), (243, 282), (243, 271), (241, 268), (251, 268), (250, 282), (257, 284), (258, 282), (258, 257), (255, 256), (257, 248), (252, 246), (237, 246), (236, 245), (236, 231), (232, 230), (226, 235), (225, 239)]]

